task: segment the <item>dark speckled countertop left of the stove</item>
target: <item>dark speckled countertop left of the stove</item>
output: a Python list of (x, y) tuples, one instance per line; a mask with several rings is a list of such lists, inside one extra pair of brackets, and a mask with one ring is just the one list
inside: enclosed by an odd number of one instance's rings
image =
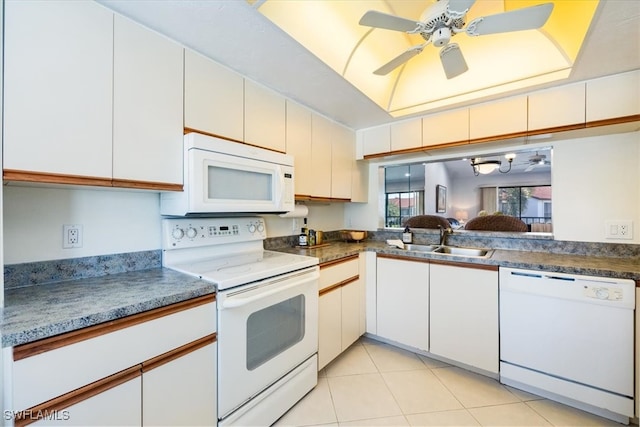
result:
[(2, 347), (214, 292), (211, 283), (165, 268), (6, 289), (0, 309)]

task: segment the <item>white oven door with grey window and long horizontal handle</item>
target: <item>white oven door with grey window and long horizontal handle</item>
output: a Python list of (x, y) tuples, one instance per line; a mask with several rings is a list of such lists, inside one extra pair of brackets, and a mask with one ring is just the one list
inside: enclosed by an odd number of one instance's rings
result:
[(218, 417), (318, 351), (318, 267), (218, 291)]

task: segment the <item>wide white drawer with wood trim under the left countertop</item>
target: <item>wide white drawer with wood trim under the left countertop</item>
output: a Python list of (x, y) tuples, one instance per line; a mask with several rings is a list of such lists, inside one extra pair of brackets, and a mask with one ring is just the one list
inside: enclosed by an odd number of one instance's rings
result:
[(15, 347), (13, 407), (30, 408), (215, 330), (211, 295)]

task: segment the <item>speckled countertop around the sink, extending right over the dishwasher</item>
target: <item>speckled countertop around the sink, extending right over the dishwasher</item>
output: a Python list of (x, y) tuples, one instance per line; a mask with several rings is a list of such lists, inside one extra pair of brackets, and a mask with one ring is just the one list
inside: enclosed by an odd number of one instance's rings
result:
[(330, 242), (327, 246), (316, 249), (278, 248), (277, 250), (314, 256), (320, 259), (321, 264), (349, 255), (355, 255), (362, 251), (374, 251), (383, 254), (403, 255), (439, 261), (465, 262), (530, 270), (548, 270), (559, 273), (608, 276), (640, 281), (639, 257), (611, 257), (495, 249), (488, 258), (476, 258), (407, 251), (390, 246), (384, 241), (377, 240), (365, 240), (361, 243), (334, 241)]

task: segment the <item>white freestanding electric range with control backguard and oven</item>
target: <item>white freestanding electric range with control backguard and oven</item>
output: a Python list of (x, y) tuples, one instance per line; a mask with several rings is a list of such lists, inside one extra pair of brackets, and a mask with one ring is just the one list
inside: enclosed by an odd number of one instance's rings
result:
[(318, 259), (264, 250), (262, 218), (162, 224), (163, 265), (217, 287), (218, 424), (271, 425), (317, 384)]

